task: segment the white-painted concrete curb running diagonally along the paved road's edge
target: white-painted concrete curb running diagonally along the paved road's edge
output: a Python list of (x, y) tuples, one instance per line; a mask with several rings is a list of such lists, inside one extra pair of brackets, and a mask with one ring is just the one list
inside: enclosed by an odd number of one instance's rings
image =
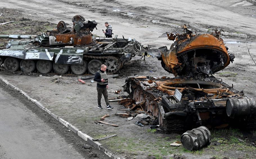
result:
[(43, 109), (44, 111), (46, 111), (50, 116), (52, 116), (55, 120), (59, 121), (62, 125), (64, 125), (65, 127), (67, 127), (69, 130), (73, 131), (75, 134), (77, 134), (79, 137), (81, 137), (84, 141), (88, 142), (89, 144), (91, 144), (92, 146), (94, 146), (95, 148), (97, 148), (98, 150), (100, 150), (101, 152), (105, 153), (107, 156), (109, 156), (109, 158), (112, 159), (125, 159), (122, 157), (118, 157), (116, 155), (114, 155), (113, 153), (111, 153), (110, 151), (108, 151), (107, 149), (105, 149), (101, 143), (99, 143), (98, 141), (93, 141), (93, 138), (90, 137), (87, 134), (84, 134), (83, 132), (81, 132), (78, 128), (76, 128), (75, 126), (71, 125), (68, 123), (68, 121), (63, 120), (62, 118), (59, 118), (57, 115), (51, 113), (50, 110), (48, 110), (47, 108), (45, 108), (40, 102), (38, 102), (35, 99), (32, 99), (31, 97), (28, 96), (27, 93), (25, 93), (23, 90), (15, 87), (14, 85), (10, 84), (8, 81), (4, 80), (1, 76), (0, 76), (0, 80), (3, 81), (6, 85), (10, 86), (11, 88), (13, 88), (14, 90), (18, 90), (21, 95), (24, 95), (24, 97), (26, 97), (28, 100), (30, 100), (31, 102), (35, 103), (40, 109)]

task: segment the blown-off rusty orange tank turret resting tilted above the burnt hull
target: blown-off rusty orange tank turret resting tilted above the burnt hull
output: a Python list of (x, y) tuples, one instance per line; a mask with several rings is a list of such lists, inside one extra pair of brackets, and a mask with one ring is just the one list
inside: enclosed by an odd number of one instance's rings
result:
[(228, 54), (220, 31), (194, 35), (186, 25), (183, 30), (183, 34), (167, 33), (168, 39), (174, 41), (169, 50), (164, 46), (149, 51), (158, 52), (158, 60), (167, 72), (175, 76), (214, 74), (233, 62), (235, 56)]

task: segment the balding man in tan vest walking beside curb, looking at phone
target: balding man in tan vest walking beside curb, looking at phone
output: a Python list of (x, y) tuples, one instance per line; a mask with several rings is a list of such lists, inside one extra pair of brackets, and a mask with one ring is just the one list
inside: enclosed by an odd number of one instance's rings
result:
[(106, 69), (107, 69), (106, 65), (104, 65), (104, 64), (101, 65), (100, 70), (95, 73), (95, 76), (94, 76), (94, 79), (93, 79), (94, 81), (97, 82), (98, 108), (99, 109), (102, 109), (102, 106), (100, 104), (102, 94), (103, 94), (105, 102), (107, 104), (107, 109), (113, 109), (113, 107), (109, 105), (109, 101), (108, 101), (108, 95), (107, 95), (108, 84), (107, 84)]

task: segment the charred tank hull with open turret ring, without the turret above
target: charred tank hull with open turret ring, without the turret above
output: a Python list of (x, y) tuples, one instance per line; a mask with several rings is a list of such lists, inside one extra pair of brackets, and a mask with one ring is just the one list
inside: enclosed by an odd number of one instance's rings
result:
[[(143, 109), (157, 119), (166, 133), (185, 132), (199, 126), (223, 128), (233, 125), (256, 130), (255, 99), (213, 76), (204, 80), (129, 77), (124, 90), (135, 101), (144, 103)], [(239, 103), (243, 109), (238, 109)]]

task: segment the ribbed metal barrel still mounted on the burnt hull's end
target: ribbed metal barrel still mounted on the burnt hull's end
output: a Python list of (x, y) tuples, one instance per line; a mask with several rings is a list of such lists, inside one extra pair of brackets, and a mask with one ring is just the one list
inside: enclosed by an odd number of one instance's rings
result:
[(256, 114), (256, 100), (254, 98), (228, 99), (226, 113), (231, 117)]

